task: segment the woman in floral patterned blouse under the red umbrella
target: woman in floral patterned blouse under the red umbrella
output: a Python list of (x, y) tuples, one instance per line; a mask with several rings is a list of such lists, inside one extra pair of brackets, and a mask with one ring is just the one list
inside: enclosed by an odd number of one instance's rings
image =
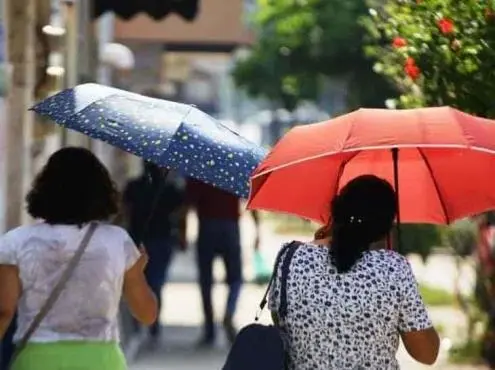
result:
[[(331, 239), (301, 245), (290, 263), (282, 325), (290, 369), (395, 370), (399, 337), (414, 359), (433, 364), (439, 337), (411, 267), (382, 248), (397, 212), (392, 186), (375, 176), (357, 177), (334, 198), (331, 211)], [(281, 268), (270, 293), (276, 323), (280, 278)]]

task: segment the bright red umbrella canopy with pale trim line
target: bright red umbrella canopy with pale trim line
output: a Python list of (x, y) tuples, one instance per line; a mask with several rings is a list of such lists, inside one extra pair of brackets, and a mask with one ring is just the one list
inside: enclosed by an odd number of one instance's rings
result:
[(445, 224), (495, 208), (495, 121), (449, 107), (360, 109), (296, 127), (251, 179), (248, 207), (320, 223), (351, 179), (395, 184), (399, 222)]

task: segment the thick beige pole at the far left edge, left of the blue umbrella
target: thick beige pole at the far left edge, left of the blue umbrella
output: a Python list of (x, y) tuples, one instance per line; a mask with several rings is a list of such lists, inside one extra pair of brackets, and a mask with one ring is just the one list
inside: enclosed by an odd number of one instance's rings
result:
[(10, 63), (6, 122), (8, 229), (23, 221), (23, 199), (30, 181), (35, 86), (36, 0), (6, 0), (7, 57)]

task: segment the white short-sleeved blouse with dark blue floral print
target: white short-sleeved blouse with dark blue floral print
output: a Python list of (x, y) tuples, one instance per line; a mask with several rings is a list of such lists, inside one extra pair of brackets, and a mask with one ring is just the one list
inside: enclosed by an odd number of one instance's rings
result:
[[(281, 268), (270, 292), (272, 311), (280, 302), (280, 277)], [(299, 247), (287, 304), (291, 370), (399, 369), (399, 332), (432, 327), (409, 262), (390, 250), (365, 252), (338, 274), (328, 248)]]

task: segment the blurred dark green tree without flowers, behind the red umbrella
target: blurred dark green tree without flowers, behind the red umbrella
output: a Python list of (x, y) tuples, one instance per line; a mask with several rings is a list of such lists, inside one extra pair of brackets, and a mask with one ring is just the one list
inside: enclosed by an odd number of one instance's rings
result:
[(390, 84), (372, 71), (362, 51), (364, 0), (258, 1), (258, 41), (238, 63), (237, 85), (289, 110), (316, 100), (323, 77), (345, 79), (350, 108), (383, 106)]

